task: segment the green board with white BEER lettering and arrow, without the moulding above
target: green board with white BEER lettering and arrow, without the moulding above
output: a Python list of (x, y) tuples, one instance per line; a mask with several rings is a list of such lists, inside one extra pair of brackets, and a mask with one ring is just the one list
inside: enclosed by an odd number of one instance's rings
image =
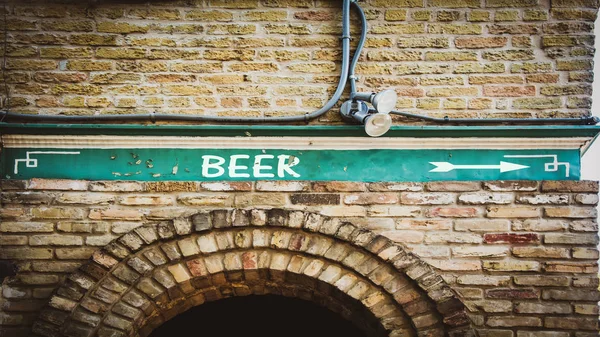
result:
[(140, 181), (577, 180), (577, 149), (4, 148), (4, 179)]

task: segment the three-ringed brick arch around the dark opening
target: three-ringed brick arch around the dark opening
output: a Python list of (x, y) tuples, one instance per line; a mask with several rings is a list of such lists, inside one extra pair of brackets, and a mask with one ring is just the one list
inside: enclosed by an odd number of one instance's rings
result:
[(402, 246), (281, 209), (215, 210), (135, 229), (68, 277), (33, 333), (147, 336), (195, 305), (265, 293), (326, 306), (369, 336), (474, 335), (456, 294)]

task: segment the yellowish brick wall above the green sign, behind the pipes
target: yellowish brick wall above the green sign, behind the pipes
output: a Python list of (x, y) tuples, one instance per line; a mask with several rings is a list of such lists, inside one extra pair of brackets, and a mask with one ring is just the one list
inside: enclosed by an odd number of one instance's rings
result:
[[(394, 88), (398, 109), (590, 113), (595, 0), (362, 5), (359, 86)], [(339, 1), (9, 1), (4, 11), (15, 112), (301, 115), (327, 101), (340, 68)]]

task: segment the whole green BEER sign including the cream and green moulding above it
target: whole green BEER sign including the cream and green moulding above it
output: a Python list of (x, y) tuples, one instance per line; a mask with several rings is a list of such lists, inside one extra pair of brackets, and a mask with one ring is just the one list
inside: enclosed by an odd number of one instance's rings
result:
[[(577, 180), (581, 152), (598, 132), (596, 128), (571, 127), (552, 136), (541, 128), (521, 132), (420, 127), (393, 129), (390, 136), (374, 139), (361, 136), (360, 130), (339, 127), (119, 127), (47, 126), (47, 133), (39, 132), (39, 126), (0, 128), (9, 131), (2, 135), (2, 177), (140, 181)], [(283, 135), (286, 130), (289, 136)], [(131, 131), (140, 134), (132, 135)], [(173, 135), (177, 133), (184, 135)]]

